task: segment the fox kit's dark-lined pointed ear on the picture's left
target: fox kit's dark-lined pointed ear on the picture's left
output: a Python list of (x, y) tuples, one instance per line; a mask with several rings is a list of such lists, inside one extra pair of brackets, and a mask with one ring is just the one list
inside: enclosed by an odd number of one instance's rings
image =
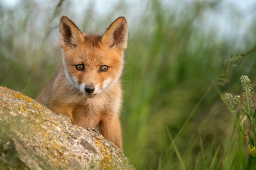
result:
[(84, 42), (84, 34), (68, 17), (60, 18), (60, 44), (65, 50), (68, 47), (77, 47)]

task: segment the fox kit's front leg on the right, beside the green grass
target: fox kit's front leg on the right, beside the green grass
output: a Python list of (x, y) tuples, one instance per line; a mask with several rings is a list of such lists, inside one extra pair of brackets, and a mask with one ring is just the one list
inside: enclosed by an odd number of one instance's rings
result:
[(106, 140), (110, 140), (122, 149), (121, 127), (118, 117), (105, 115), (100, 123), (100, 132)]

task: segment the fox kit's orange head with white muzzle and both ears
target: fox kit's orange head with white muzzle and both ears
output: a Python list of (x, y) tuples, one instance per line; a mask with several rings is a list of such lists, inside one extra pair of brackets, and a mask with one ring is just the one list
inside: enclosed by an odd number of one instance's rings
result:
[(121, 77), (127, 38), (124, 17), (117, 18), (103, 35), (87, 35), (68, 17), (60, 18), (63, 67), (69, 84), (87, 97), (110, 89)]

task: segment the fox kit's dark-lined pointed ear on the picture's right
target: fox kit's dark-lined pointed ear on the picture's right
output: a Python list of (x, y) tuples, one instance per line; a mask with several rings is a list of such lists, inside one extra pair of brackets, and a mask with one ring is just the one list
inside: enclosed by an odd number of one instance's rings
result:
[(127, 47), (128, 26), (124, 17), (117, 18), (102, 37), (102, 44), (116, 50), (124, 50)]

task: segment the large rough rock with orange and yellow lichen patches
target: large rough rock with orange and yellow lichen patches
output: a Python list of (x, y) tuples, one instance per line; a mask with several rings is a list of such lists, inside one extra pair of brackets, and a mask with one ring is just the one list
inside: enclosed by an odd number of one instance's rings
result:
[(0, 86), (0, 169), (134, 169), (96, 130)]

